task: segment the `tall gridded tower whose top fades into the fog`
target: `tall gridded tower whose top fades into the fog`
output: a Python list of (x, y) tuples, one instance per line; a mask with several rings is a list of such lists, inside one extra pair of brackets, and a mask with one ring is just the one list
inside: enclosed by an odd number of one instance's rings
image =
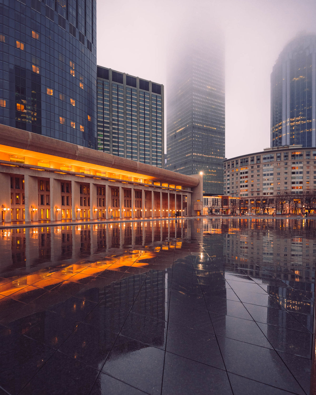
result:
[(167, 169), (186, 175), (203, 171), (203, 192), (222, 194), (224, 43), (198, 28), (190, 34), (168, 68)]

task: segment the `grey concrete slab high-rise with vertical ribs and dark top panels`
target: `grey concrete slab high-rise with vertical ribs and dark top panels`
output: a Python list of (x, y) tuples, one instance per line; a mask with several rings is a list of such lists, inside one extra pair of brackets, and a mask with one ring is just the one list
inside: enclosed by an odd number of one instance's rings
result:
[(98, 150), (164, 167), (164, 86), (98, 66)]

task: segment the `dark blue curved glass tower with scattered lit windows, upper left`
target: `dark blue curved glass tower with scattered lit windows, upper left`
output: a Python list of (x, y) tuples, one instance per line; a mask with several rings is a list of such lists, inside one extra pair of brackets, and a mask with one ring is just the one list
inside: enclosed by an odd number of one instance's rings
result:
[(0, 123), (96, 149), (96, 0), (0, 0)]

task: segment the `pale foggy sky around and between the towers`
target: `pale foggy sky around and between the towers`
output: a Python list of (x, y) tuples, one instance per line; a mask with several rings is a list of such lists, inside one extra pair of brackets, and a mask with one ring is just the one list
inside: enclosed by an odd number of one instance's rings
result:
[(225, 36), (226, 157), (270, 147), (270, 74), (288, 41), (316, 32), (314, 0), (97, 0), (98, 65), (164, 84), (166, 115), (168, 48), (199, 13)]

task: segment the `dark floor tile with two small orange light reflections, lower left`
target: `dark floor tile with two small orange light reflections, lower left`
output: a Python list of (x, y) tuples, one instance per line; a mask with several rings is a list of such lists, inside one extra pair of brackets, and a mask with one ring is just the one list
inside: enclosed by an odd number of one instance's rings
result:
[(94, 307), (96, 307), (96, 303), (71, 296), (54, 311), (65, 318), (80, 322), (87, 317)]

